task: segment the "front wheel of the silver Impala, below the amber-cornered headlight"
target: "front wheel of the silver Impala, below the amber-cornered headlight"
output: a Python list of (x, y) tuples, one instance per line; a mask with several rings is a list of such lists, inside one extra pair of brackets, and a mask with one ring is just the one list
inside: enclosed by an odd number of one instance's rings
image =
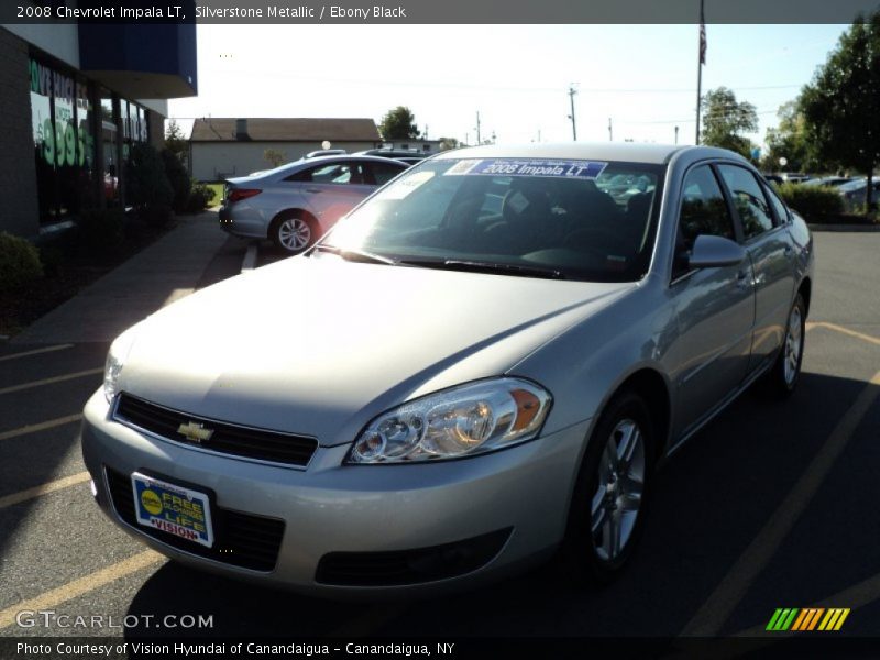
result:
[(653, 466), (648, 406), (632, 392), (616, 395), (587, 446), (569, 512), (565, 568), (576, 581), (605, 584), (638, 543)]

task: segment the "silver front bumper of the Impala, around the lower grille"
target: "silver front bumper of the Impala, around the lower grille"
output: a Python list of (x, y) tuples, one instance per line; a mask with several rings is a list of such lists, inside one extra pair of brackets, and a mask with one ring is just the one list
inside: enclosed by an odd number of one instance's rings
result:
[[(440, 593), (472, 586), (549, 556), (562, 539), (588, 421), (522, 446), (458, 461), (343, 465), (349, 446), (321, 447), (308, 468), (260, 464), (193, 450), (110, 418), (102, 392), (86, 405), (82, 453), (105, 513), (160, 552), (204, 570), (302, 593)], [(267, 571), (197, 557), (124, 522), (108, 471), (155, 473), (209, 490), (216, 506), (284, 521)], [(507, 530), (501, 550), (462, 574), (414, 584), (327, 584), (321, 560), (448, 547)], [(498, 537), (495, 537), (498, 538)], [(441, 571), (442, 573), (442, 571)]]

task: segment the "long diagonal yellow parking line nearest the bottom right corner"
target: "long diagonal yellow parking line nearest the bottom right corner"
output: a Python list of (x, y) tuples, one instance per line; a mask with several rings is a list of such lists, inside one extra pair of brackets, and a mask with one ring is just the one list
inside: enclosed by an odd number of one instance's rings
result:
[(685, 637), (714, 637), (745, 596), (751, 583), (776, 553), (813, 495), (822, 485), (837, 457), (843, 452), (859, 422), (880, 396), (880, 372), (877, 372), (844, 414), (801, 479), (773, 512), (758, 536), (749, 543), (724, 580), (715, 587), (696, 615), (681, 631)]

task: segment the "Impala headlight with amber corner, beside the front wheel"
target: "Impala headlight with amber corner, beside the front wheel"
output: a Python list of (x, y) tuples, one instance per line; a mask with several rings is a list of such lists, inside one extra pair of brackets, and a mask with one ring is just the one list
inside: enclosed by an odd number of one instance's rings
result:
[(376, 417), (345, 462), (437, 461), (510, 447), (538, 435), (551, 400), (549, 392), (519, 378), (431, 394)]

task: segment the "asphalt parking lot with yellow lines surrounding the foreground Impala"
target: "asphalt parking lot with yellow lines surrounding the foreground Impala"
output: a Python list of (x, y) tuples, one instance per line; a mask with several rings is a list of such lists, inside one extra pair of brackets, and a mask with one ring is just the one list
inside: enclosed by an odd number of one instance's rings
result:
[[(880, 233), (815, 238), (799, 391), (782, 405), (745, 395), (680, 451), (630, 570), (598, 591), (551, 563), (415, 605), (340, 604), (183, 569), (91, 499), (78, 415), (107, 344), (0, 345), (0, 636), (750, 636), (777, 608), (839, 607), (835, 635), (880, 637)], [(243, 252), (224, 250), (204, 284)], [(45, 609), (142, 623), (16, 620)], [(154, 629), (169, 614), (213, 626)]]

